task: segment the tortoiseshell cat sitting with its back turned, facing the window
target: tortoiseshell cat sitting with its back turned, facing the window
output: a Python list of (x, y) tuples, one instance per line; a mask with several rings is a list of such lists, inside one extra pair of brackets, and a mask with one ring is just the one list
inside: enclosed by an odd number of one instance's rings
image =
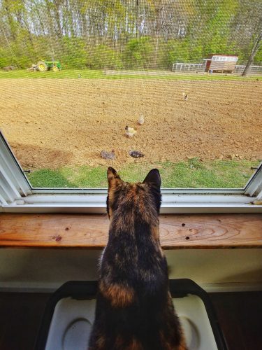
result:
[(127, 183), (108, 168), (108, 244), (89, 350), (186, 350), (159, 243), (161, 179)]

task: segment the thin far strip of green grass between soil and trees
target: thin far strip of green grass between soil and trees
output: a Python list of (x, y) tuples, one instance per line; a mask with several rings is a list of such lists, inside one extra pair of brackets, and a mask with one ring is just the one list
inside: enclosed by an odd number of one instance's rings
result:
[(262, 76), (233, 76), (228, 74), (208, 74), (208, 73), (171, 73), (166, 71), (165, 75), (145, 75), (145, 74), (124, 74), (119, 71), (115, 75), (104, 74), (101, 70), (91, 70), (91, 69), (62, 69), (61, 71), (55, 73), (53, 71), (46, 72), (31, 72), (26, 69), (20, 69), (17, 71), (2, 71), (0, 70), (0, 78), (50, 78), (50, 79), (78, 79), (81, 74), (83, 79), (166, 79), (166, 80), (262, 80)]

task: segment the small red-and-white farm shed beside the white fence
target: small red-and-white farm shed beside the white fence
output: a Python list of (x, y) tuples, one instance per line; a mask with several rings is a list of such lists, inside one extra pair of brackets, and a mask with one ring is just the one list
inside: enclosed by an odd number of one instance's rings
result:
[(205, 61), (205, 71), (232, 73), (238, 62), (237, 55), (209, 55)]

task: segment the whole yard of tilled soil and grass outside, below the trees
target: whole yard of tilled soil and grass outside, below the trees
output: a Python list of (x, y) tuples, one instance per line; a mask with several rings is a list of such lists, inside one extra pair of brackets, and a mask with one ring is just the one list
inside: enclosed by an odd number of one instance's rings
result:
[[(110, 165), (130, 181), (158, 167), (166, 188), (239, 188), (262, 159), (261, 78), (88, 70), (0, 78), (0, 127), (36, 187), (105, 187)], [(131, 158), (131, 149), (145, 156)]]

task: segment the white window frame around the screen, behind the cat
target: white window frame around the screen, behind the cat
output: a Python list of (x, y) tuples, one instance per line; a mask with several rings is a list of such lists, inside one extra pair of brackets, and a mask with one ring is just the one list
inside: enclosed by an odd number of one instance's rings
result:
[[(262, 163), (245, 188), (163, 188), (161, 193), (163, 214), (262, 213)], [(0, 212), (100, 214), (106, 195), (105, 188), (31, 188), (0, 130)]]

